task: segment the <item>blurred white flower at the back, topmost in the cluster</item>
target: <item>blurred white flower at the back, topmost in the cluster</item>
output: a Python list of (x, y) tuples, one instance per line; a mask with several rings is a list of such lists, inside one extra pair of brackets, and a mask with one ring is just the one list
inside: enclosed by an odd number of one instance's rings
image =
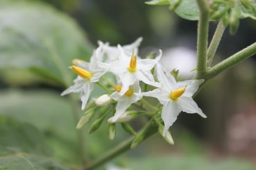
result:
[[(141, 41), (142, 41), (142, 37), (139, 37), (132, 44), (122, 46), (124, 53), (128, 56), (131, 56), (132, 51), (134, 50), (134, 53), (138, 54), (138, 46), (140, 45)], [(98, 41), (98, 45), (102, 45), (102, 54), (99, 55), (99, 61), (104, 61), (105, 63), (110, 63), (112, 61), (116, 61), (119, 59), (121, 51), (118, 47), (109, 46), (108, 42), (102, 43), (101, 41)], [(104, 56), (105, 56), (104, 54), (106, 54), (105, 58), (104, 58)]]

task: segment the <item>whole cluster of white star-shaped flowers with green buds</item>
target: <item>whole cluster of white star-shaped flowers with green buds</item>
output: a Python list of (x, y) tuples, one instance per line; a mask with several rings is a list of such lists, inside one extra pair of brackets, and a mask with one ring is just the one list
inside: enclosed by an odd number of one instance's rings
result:
[[(154, 118), (158, 123), (161, 135), (167, 136), (169, 141), (168, 129), (181, 111), (197, 113), (206, 118), (201, 109), (198, 108), (197, 103), (192, 99), (193, 94), (197, 92), (203, 80), (177, 82), (176, 78), (166, 72), (159, 64), (162, 55), (161, 50), (159, 50), (155, 59), (142, 59), (138, 56), (138, 46), (141, 41), (142, 38), (140, 37), (130, 45), (118, 45), (117, 47), (99, 41), (99, 47), (93, 52), (90, 62), (79, 59), (73, 61), (74, 65), (70, 68), (78, 74), (78, 77), (74, 80), (74, 85), (63, 91), (61, 95), (71, 92), (81, 93), (82, 109), (84, 109), (95, 83), (108, 92), (108, 94), (100, 96), (95, 102), (96, 106), (93, 106), (82, 116), (77, 126), (78, 129), (92, 119), (98, 107), (102, 107), (100, 112), (103, 114), (100, 113), (101, 117), (98, 121), (95, 121), (90, 132), (93, 132), (95, 127), (98, 127), (98, 124), (112, 112), (112, 117), (108, 119), (109, 129), (112, 130), (110, 132), (110, 135), (112, 134), (111, 138), (115, 133), (113, 124), (117, 122), (122, 122), (122, 127), (126, 132), (136, 134), (124, 122), (134, 119), (140, 113), (146, 113), (152, 119)], [(153, 70), (155, 71), (155, 78), (152, 74)], [(111, 83), (109, 81), (105, 81), (105, 84), (99, 82), (100, 77), (106, 72), (111, 72), (116, 76), (117, 83), (115, 85), (110, 87)], [(143, 85), (143, 91), (140, 85)], [(147, 91), (148, 85), (155, 89)], [(157, 98), (160, 104), (153, 106), (146, 102), (143, 96)], [(142, 111), (132, 110), (133, 107), (130, 107), (132, 104), (141, 108)], [(161, 117), (159, 121), (158, 115), (159, 118)]]

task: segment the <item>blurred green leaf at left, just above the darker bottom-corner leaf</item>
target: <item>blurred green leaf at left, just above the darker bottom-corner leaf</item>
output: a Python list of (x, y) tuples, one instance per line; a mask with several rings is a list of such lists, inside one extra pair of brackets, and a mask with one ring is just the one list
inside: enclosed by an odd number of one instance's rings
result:
[(55, 156), (77, 163), (79, 148), (71, 102), (53, 91), (5, 90), (0, 93), (1, 114), (36, 126), (46, 136)]

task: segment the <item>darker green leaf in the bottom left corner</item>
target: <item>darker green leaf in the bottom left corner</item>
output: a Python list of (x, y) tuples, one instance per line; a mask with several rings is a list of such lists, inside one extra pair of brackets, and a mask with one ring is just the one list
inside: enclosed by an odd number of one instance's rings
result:
[(0, 170), (69, 170), (49, 158), (51, 150), (34, 126), (0, 116)]

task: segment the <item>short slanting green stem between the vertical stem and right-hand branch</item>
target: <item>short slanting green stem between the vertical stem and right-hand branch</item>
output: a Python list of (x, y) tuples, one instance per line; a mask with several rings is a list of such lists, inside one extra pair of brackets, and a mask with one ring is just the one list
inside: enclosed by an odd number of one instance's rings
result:
[(208, 51), (207, 51), (207, 66), (210, 67), (211, 63), (213, 61), (214, 55), (217, 51), (219, 42), (221, 40), (221, 37), (225, 31), (225, 26), (223, 25), (222, 21), (219, 21), (217, 25), (217, 29), (214, 33), (213, 39), (209, 45)]

